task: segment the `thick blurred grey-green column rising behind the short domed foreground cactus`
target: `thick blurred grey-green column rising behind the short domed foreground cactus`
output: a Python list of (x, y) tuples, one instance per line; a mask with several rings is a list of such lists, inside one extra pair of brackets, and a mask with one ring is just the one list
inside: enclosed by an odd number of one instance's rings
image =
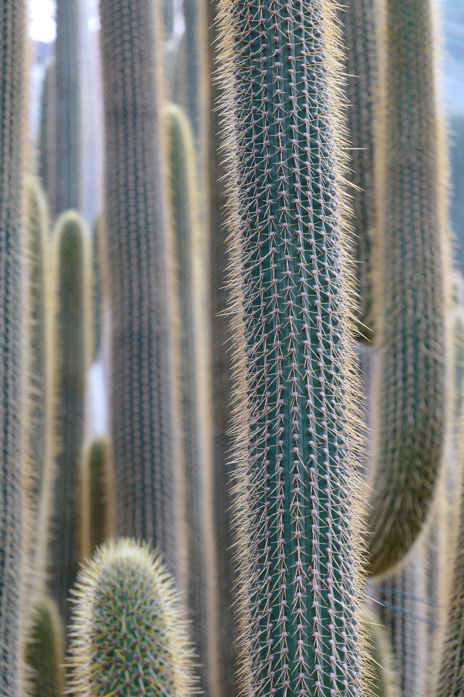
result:
[(152, 0), (102, 0), (105, 250), (111, 302), (116, 533), (152, 539), (177, 575), (177, 424), (158, 17)]

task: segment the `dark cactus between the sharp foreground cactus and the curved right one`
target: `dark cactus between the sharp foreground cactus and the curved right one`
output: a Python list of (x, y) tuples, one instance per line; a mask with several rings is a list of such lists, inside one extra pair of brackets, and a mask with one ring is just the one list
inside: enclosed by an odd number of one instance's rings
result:
[(372, 0), (343, 3), (339, 18), (346, 45), (346, 95), (353, 196), (353, 256), (358, 279), (358, 338), (372, 339), (372, 235), (374, 231), (374, 108), (376, 94), (376, 27)]

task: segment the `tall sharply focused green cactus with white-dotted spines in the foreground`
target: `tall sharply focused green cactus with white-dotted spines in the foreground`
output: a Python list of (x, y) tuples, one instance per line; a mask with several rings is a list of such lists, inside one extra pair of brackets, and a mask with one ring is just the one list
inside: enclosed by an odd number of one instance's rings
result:
[(335, 3), (223, 0), (243, 694), (360, 695)]

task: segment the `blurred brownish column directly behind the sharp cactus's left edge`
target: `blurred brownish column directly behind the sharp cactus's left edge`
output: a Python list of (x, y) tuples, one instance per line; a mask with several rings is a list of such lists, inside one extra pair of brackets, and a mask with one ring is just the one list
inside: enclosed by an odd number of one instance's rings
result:
[(209, 109), (207, 152), (207, 208), (209, 211), (209, 326), (211, 328), (211, 415), (212, 415), (212, 489), (214, 491), (214, 562), (216, 587), (216, 651), (218, 654), (219, 696), (235, 697), (237, 694), (237, 628), (234, 622), (234, 583), (232, 563), (232, 472), (230, 461), (232, 358), (230, 351), (229, 318), (225, 316), (227, 298), (226, 240), (227, 226), (225, 162), (221, 153), (222, 134), (217, 106), (223, 95), (223, 87), (216, 76), (218, 69), (218, 0), (207, 2), (207, 49), (209, 75)]

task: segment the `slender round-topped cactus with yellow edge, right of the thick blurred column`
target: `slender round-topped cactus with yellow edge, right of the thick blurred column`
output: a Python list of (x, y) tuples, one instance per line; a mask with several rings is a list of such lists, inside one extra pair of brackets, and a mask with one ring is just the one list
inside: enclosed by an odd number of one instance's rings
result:
[(175, 293), (179, 326), (176, 337), (179, 381), (182, 461), (188, 485), (186, 496), (187, 606), (191, 634), (197, 647), (202, 686), (214, 680), (216, 666), (209, 661), (214, 626), (211, 595), (211, 427), (209, 418), (209, 332), (205, 282), (205, 231), (198, 218), (195, 144), (189, 118), (176, 105), (166, 105), (163, 122), (167, 139)]

